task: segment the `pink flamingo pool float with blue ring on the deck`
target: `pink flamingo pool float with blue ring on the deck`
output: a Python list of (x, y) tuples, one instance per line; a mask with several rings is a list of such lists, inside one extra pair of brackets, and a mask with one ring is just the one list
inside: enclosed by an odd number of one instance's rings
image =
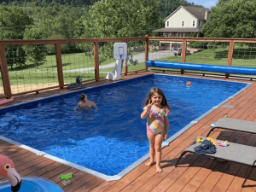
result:
[(0, 175), (8, 180), (0, 183), (0, 192), (63, 192), (55, 183), (44, 177), (20, 177), (15, 170), (14, 161), (0, 154)]

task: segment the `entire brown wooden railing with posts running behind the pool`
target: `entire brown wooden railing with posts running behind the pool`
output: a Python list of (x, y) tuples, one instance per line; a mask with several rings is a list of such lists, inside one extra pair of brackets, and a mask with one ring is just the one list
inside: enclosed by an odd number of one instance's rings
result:
[[(58, 80), (59, 85), (49, 88), (44, 88), (40, 90), (47, 90), (59, 87), (60, 89), (63, 89), (63, 87), (67, 84), (64, 84), (63, 81), (63, 70), (62, 70), (62, 61), (61, 61), (61, 44), (83, 44), (83, 43), (93, 43), (94, 44), (94, 67), (95, 67), (95, 80), (100, 80), (99, 75), (99, 43), (102, 42), (117, 42), (122, 41), (127, 44), (129, 44), (129, 41), (144, 41), (145, 42), (145, 62), (148, 61), (148, 44), (149, 41), (172, 41), (172, 42), (182, 42), (183, 43), (183, 50), (186, 50), (187, 42), (191, 41), (201, 41), (201, 42), (224, 42), (224, 43), (230, 43), (230, 49), (228, 53), (228, 60), (227, 60), (227, 66), (232, 65), (232, 57), (233, 57), (233, 50), (234, 50), (234, 44), (235, 43), (253, 43), (256, 44), (256, 39), (247, 39), (247, 38), (166, 38), (166, 37), (148, 37), (146, 35), (144, 38), (85, 38), (85, 39), (48, 39), (48, 40), (2, 40), (0, 41), (0, 67), (1, 67), (1, 74), (2, 74), (2, 80), (3, 80), (3, 90), (4, 95), (6, 98), (11, 98), (11, 96), (15, 96), (18, 94), (12, 94), (10, 82), (9, 82), (9, 72), (8, 72), (8, 65), (5, 55), (5, 46), (10, 45), (35, 45), (35, 44), (54, 44), (55, 45), (55, 56), (56, 56), (56, 65), (57, 65), (57, 73), (58, 73)], [(182, 52), (182, 62), (186, 61), (186, 52)], [(147, 65), (145, 63), (144, 69), (147, 70)], [(124, 74), (127, 75), (127, 67), (124, 68)], [(183, 73), (183, 71), (181, 71)], [(19, 93), (20, 94), (26, 94), (29, 92), (37, 92), (40, 90), (31, 90)]]

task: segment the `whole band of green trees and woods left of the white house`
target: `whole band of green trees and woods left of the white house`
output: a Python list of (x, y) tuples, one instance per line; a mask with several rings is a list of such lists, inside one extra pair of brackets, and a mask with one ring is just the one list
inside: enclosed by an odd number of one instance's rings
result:
[[(170, 3), (172, 2), (172, 3)], [(163, 18), (180, 5), (195, 6), (185, 0), (0, 0), (0, 39), (61, 39), (143, 37), (164, 26)], [(93, 7), (92, 7), (93, 5)], [(101, 46), (100, 62), (108, 59)], [(89, 52), (90, 44), (67, 44), (61, 49)], [(8, 65), (36, 65), (46, 55), (55, 54), (53, 45), (7, 46)]]

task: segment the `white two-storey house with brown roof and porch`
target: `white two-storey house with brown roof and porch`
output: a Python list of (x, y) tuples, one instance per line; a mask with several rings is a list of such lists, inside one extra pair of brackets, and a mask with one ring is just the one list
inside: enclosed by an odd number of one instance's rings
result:
[[(165, 27), (154, 32), (161, 32), (164, 37), (190, 37), (195, 33), (196, 37), (200, 38), (202, 26), (209, 20), (210, 13), (211, 10), (207, 8), (180, 6), (166, 17)], [(179, 46), (173, 42), (171, 47)]]

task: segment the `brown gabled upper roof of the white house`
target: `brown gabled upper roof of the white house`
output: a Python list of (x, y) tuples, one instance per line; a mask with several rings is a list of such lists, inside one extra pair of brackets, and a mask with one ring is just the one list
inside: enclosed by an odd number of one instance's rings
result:
[(198, 20), (206, 20), (205, 19), (206, 11), (211, 12), (211, 10), (207, 9), (207, 8), (195, 8), (195, 7), (188, 7), (188, 6), (179, 6), (175, 11), (172, 12), (171, 15), (167, 16), (165, 20), (168, 20), (173, 14), (175, 14), (177, 12), (177, 10), (179, 10), (181, 8), (187, 10), (189, 12), (189, 14), (195, 16), (195, 18), (197, 18)]

